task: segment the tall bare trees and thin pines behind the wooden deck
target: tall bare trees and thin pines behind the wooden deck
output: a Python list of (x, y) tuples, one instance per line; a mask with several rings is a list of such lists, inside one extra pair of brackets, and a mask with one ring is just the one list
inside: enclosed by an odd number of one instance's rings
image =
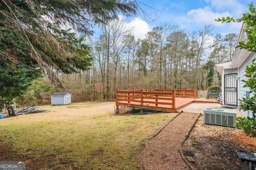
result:
[[(145, 39), (138, 40), (132, 28), (124, 27), (123, 20), (111, 21), (100, 28), (102, 33), (98, 38), (86, 39), (94, 57), (91, 69), (59, 75), (70, 87), (72, 102), (114, 100), (116, 88), (206, 90), (212, 85), (220, 86), (221, 76), (215, 64), (230, 61), (238, 38), (235, 33), (213, 36), (211, 25), (186, 33), (178, 26), (164, 23), (148, 32)], [(31, 90), (20, 101), (40, 94), (36, 97), (38, 102), (49, 104), (50, 94), (63, 91), (47, 79), (41, 80), (33, 85), (39, 91)]]

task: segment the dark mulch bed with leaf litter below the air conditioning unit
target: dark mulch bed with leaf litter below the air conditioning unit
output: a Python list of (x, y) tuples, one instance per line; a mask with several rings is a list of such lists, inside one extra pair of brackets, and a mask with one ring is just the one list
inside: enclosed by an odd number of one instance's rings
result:
[[(238, 128), (209, 125), (200, 116), (182, 147), (185, 156), (191, 156), (194, 170), (246, 170), (237, 152), (255, 152), (256, 139), (246, 136)], [(196, 156), (199, 153), (200, 156)]]

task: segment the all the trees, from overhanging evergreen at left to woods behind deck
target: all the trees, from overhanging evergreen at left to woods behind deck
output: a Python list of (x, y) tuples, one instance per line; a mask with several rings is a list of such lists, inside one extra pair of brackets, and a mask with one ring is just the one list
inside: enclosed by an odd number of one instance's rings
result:
[[(116, 88), (206, 90), (220, 85), (214, 63), (230, 61), (238, 37), (166, 22), (136, 39), (119, 16), (142, 10), (136, 0), (0, 4), (0, 108), (14, 99), (50, 104), (53, 92), (82, 102), (114, 100)], [(100, 34), (91, 37), (95, 26)]]

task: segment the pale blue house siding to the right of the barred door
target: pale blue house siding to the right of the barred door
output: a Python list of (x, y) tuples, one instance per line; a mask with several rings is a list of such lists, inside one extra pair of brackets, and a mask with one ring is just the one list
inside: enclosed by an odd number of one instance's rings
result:
[[(247, 80), (248, 78), (246, 78), (244, 76), (245, 73), (245, 69), (246, 66), (251, 65), (252, 64), (252, 60), (256, 58), (256, 53), (251, 53), (248, 58), (244, 61), (244, 63), (241, 64), (241, 66), (238, 68), (239, 69), (239, 81), (238, 81), (238, 88), (239, 88), (239, 93), (238, 93), (238, 105), (239, 105), (239, 100), (241, 100), (242, 98), (246, 98), (246, 91), (248, 93), (248, 91), (250, 91), (250, 88), (248, 87), (244, 87), (245, 83), (242, 82), (242, 80)], [(250, 116), (252, 117), (252, 113), (248, 112), (248, 111), (242, 111), (244, 116)]]

